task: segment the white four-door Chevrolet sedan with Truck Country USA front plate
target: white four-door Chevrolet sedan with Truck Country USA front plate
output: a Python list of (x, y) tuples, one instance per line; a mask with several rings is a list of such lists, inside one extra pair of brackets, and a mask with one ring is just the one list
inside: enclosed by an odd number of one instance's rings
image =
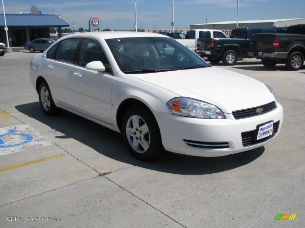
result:
[(271, 87), (212, 67), (160, 34), (64, 36), (34, 56), (30, 81), (46, 115), (65, 109), (120, 132), (142, 160), (164, 149), (194, 156), (251, 150), (277, 136), (283, 120)]

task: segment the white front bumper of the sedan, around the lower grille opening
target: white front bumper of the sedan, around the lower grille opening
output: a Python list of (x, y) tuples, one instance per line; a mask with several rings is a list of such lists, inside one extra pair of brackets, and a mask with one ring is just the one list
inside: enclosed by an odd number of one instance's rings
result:
[[(166, 150), (192, 156), (217, 157), (252, 150), (272, 140), (280, 132), (283, 108), (277, 102), (277, 109), (271, 112), (238, 120), (232, 114), (225, 114), (227, 119), (197, 119), (164, 112), (154, 112), (154, 115), (159, 124), (162, 143)], [(256, 130), (258, 125), (268, 121), (274, 123), (279, 121), (276, 134), (262, 143), (244, 147), (241, 133)], [(196, 148), (189, 146), (184, 140), (219, 145), (228, 143), (229, 148)]]

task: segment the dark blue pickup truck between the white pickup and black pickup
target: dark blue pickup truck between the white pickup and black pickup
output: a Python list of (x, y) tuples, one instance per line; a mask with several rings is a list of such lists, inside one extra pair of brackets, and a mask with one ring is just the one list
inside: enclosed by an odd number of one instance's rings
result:
[(250, 36), (257, 33), (277, 33), (270, 28), (238, 28), (233, 29), (229, 39), (199, 38), (197, 50), (201, 57), (207, 57), (211, 63), (223, 62), (224, 65), (234, 65), (237, 60), (248, 57)]

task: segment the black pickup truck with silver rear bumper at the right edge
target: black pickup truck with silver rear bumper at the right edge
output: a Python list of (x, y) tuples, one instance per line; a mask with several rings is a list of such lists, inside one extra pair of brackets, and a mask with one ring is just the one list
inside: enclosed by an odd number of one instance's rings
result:
[(262, 60), (265, 67), (285, 63), (289, 70), (300, 70), (305, 56), (305, 24), (289, 26), (286, 33), (251, 36), (249, 56)]

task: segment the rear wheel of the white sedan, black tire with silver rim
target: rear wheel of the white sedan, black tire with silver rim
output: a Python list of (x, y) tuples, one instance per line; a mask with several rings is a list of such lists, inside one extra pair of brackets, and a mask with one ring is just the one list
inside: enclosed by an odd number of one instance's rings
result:
[[(42, 92), (43, 90), (43, 92)], [(47, 96), (42, 96), (45, 91), (48, 92)], [(42, 81), (39, 85), (39, 89), (38, 89), (38, 96), (39, 96), (39, 104), (40, 107), (42, 109), (42, 112), (45, 113), (45, 115), (47, 116), (54, 116), (56, 114), (58, 114), (59, 112), (59, 108), (55, 106), (51, 92), (50, 92), (50, 88), (48, 86), (48, 83), (46, 81)], [(42, 97), (44, 97), (45, 101), (42, 101)], [(48, 104), (49, 105), (44, 105), (47, 103), (48, 100)]]

